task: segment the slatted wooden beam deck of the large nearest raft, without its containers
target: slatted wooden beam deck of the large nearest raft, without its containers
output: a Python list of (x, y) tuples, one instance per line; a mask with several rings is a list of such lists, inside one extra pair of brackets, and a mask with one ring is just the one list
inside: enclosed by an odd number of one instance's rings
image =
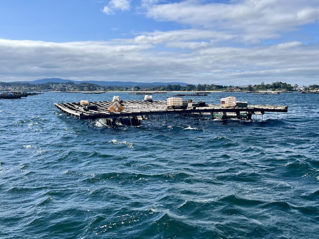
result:
[[(288, 106), (279, 105), (248, 105), (246, 108), (222, 108), (221, 105), (206, 104), (205, 107), (186, 108), (186, 109), (167, 109), (167, 101), (142, 101), (129, 100), (121, 101), (124, 110), (121, 112), (109, 112), (108, 107), (112, 105), (112, 101), (94, 101), (89, 102), (89, 105), (96, 106), (94, 110), (87, 110), (84, 105), (79, 102), (74, 103), (54, 103), (54, 105), (65, 112), (67, 115), (77, 117), (79, 119), (99, 119), (99, 118), (123, 118), (123, 117), (138, 117), (149, 115), (171, 115), (171, 114), (194, 114), (204, 113), (213, 114), (227, 113), (240, 114), (264, 114), (264, 112), (287, 112)], [(248, 117), (249, 118), (249, 117)]]

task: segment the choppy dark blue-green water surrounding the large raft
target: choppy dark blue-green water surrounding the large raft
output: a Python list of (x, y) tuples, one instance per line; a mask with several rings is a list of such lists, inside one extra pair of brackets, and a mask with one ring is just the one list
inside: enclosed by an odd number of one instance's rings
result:
[(318, 238), (319, 95), (231, 93), (289, 112), (156, 127), (53, 105), (114, 94), (0, 101), (0, 238)]

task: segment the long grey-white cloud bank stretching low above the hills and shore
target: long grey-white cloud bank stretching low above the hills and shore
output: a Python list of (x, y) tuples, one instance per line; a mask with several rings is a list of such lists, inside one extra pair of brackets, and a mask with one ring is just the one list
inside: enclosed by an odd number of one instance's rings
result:
[[(152, 34), (158, 35), (161, 34)], [(183, 39), (64, 43), (0, 39), (0, 77), (2, 81), (61, 77), (225, 85), (236, 84), (238, 79), (241, 84), (277, 80), (293, 84), (318, 82), (318, 44), (284, 42), (241, 48)], [(157, 44), (161, 42), (171, 50), (159, 50)]]

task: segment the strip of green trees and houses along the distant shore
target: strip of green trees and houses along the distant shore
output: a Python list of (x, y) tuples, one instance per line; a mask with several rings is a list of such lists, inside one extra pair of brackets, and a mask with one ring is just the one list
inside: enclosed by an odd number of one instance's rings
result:
[[(41, 84), (32, 84), (32, 83), (22, 83), (22, 82), (0, 82), (2, 88), (9, 88), (12, 90), (24, 90), (24, 91), (225, 91), (225, 90), (242, 90), (242, 91), (262, 91), (262, 90), (278, 90), (284, 89), (287, 91), (297, 88), (298, 85), (295, 84), (292, 86), (288, 83), (282, 82), (273, 82), (271, 84), (261, 84), (248, 85), (248, 86), (224, 86), (216, 84), (198, 84), (197, 86), (189, 84), (186, 86), (177, 85), (158, 85), (151, 88), (141, 89), (139, 86), (135, 87), (121, 87), (121, 86), (101, 86), (92, 83), (79, 83), (66, 82), (66, 83), (57, 83), (57, 82), (48, 82)], [(305, 87), (307, 89), (319, 88), (319, 85), (309, 85)]]

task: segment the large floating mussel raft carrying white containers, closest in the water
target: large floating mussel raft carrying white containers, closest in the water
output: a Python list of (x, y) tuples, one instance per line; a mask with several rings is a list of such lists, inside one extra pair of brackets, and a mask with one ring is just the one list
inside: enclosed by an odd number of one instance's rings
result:
[[(142, 120), (153, 117), (180, 116), (197, 119), (241, 119), (252, 120), (252, 115), (265, 112), (287, 112), (288, 106), (248, 105), (248, 102), (236, 101), (235, 97), (221, 99), (220, 105), (207, 104), (204, 101), (182, 101), (182, 97), (168, 97), (167, 100), (121, 100), (81, 101), (74, 103), (54, 103), (67, 115), (82, 119), (103, 119), (106, 125), (140, 125)], [(162, 118), (160, 118), (162, 119)]]

